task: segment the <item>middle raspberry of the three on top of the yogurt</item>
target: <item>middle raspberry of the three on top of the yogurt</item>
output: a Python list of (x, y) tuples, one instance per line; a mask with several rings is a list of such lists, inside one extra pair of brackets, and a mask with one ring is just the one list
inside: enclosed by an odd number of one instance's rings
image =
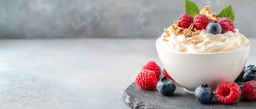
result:
[(196, 15), (193, 21), (196, 30), (206, 29), (206, 26), (210, 23), (210, 19), (205, 15)]

